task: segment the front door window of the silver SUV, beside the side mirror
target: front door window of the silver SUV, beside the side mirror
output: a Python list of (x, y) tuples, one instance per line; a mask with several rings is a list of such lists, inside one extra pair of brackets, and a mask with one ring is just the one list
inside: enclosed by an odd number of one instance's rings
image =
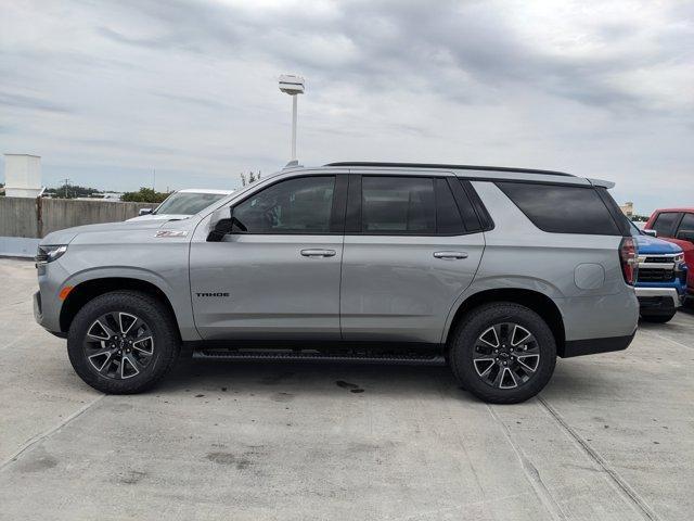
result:
[(234, 207), (247, 233), (329, 233), (334, 176), (278, 182)]

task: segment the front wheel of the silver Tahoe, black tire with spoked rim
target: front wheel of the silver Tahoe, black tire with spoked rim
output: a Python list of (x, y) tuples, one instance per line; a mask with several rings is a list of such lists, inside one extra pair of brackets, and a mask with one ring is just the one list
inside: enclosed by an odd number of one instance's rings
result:
[(176, 364), (178, 329), (157, 300), (136, 291), (105, 293), (89, 301), (67, 334), (75, 372), (107, 394), (140, 393)]

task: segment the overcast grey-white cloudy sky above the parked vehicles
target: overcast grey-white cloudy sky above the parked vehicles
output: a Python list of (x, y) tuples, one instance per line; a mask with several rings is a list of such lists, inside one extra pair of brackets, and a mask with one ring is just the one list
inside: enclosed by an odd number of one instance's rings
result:
[(694, 1), (0, 0), (0, 151), (43, 180), (233, 188), (305, 165), (560, 169), (694, 204)]

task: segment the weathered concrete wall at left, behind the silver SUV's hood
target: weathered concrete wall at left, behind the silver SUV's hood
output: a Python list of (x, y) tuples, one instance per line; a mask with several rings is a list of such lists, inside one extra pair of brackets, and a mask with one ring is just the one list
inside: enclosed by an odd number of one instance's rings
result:
[(51, 231), (73, 226), (126, 220), (137, 216), (140, 208), (154, 206), (151, 203), (0, 196), (0, 237), (40, 239)]

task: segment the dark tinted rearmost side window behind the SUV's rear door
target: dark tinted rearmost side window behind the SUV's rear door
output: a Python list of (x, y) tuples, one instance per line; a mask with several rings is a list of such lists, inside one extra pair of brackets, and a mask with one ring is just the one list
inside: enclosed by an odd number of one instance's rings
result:
[(497, 186), (543, 231), (620, 236), (615, 219), (592, 187), (499, 181)]

